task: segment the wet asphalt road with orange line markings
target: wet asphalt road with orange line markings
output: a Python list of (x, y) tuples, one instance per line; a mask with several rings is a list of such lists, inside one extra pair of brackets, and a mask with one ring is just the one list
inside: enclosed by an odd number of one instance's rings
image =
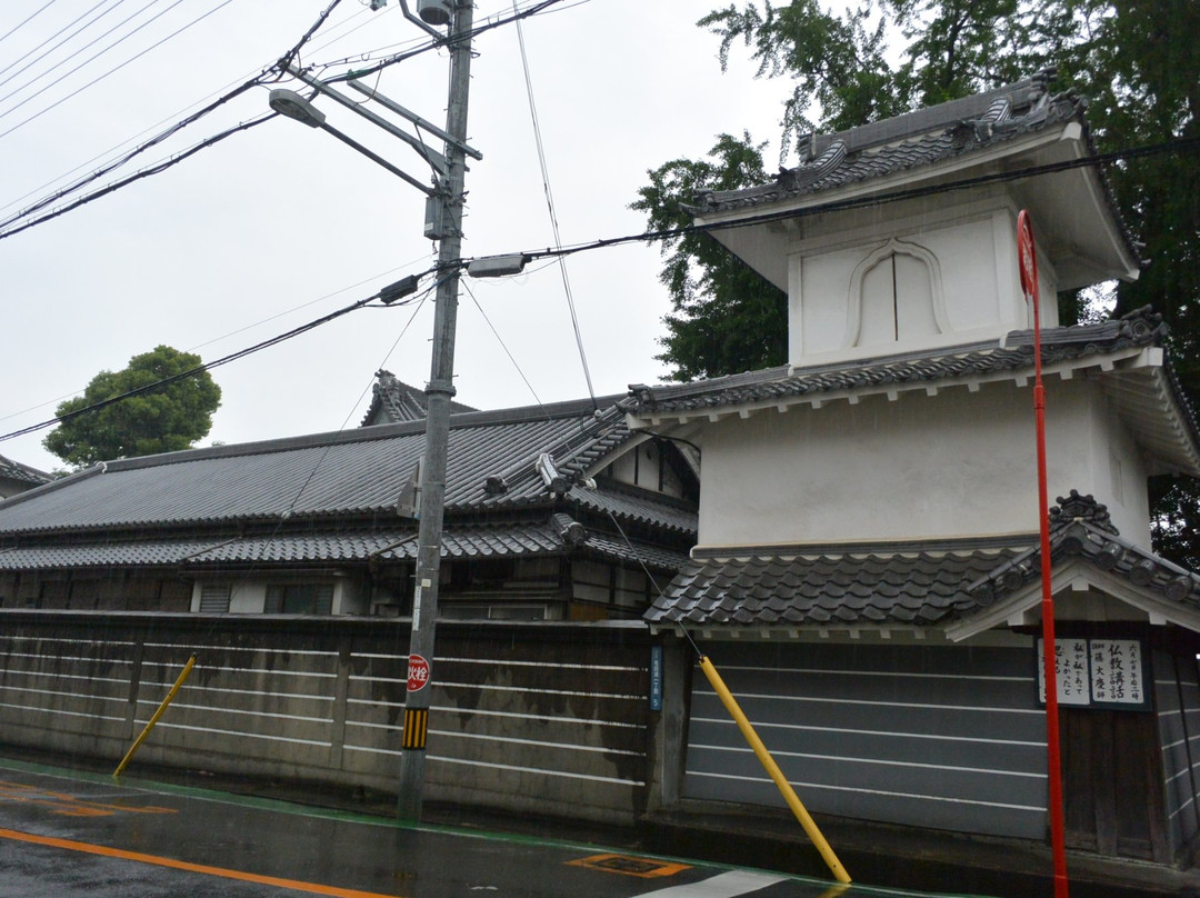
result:
[[(0, 761), (0, 898), (868, 898), (896, 892), (412, 827)], [(911, 894), (911, 893), (908, 893)]]

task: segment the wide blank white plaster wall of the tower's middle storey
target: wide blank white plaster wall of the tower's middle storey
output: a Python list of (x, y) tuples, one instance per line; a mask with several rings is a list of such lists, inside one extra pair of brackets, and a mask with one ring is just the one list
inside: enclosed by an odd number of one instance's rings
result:
[[(1110, 447), (1124, 466), (1123, 535), (1148, 544), (1132, 439), (1096, 384), (1048, 382), (1049, 498), (1072, 489), (1112, 507)], [(725, 418), (703, 435), (700, 544), (955, 538), (1038, 528), (1032, 388)], [(1141, 496), (1140, 499), (1136, 497)], [(1134, 498), (1130, 498), (1134, 497)], [(1140, 504), (1139, 504), (1140, 503)], [(1144, 517), (1142, 517), (1144, 521)], [(1124, 526), (1122, 526), (1124, 525)]]

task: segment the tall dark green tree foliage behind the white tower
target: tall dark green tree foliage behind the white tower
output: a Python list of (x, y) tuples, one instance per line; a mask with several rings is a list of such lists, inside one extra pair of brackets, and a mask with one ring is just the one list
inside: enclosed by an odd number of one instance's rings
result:
[[(922, 106), (1057, 70), (1056, 90), (1091, 102), (1100, 151), (1175, 142), (1177, 152), (1132, 155), (1106, 168), (1118, 210), (1151, 263), (1116, 288), (1116, 312), (1152, 305), (1171, 331), (1184, 393), (1200, 399), (1200, 4), (1195, 0), (862, 0), (844, 13), (817, 0), (738, 0), (697, 23), (719, 38), (722, 67), (744, 48), (758, 76), (787, 78), (782, 158), (811, 131), (833, 132)], [(748, 85), (748, 89), (752, 89)], [(1188, 144), (1186, 142), (1192, 140)], [(649, 173), (634, 208), (650, 226), (688, 223), (684, 204), (701, 190), (762, 184), (763, 145), (718, 138), (698, 161)], [(718, 376), (786, 360), (781, 294), (760, 288), (745, 267), (707, 238), (664, 243), (662, 281), (672, 312), (660, 360), (672, 376)], [(1080, 311), (1067, 298), (1068, 321)], [(701, 321), (703, 319), (703, 321)], [(1156, 545), (1200, 568), (1200, 487), (1152, 484)]]

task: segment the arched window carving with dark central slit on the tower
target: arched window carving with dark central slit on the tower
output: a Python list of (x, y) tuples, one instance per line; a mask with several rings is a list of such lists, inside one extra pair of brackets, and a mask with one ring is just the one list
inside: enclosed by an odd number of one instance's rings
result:
[(846, 297), (844, 348), (907, 343), (950, 330), (937, 257), (892, 239), (858, 263)]

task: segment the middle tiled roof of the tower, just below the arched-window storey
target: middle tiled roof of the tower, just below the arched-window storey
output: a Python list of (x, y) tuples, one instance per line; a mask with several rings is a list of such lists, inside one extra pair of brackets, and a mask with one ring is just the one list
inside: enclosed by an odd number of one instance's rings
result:
[[(1160, 346), (1162, 316), (1148, 309), (1098, 324), (1046, 329), (1042, 361), (1086, 359), (1129, 347)], [(1033, 331), (1010, 333), (1002, 342), (968, 343), (918, 353), (809, 367), (780, 366), (685, 384), (629, 388), (630, 412), (640, 418), (778, 402), (828, 393), (924, 387), (943, 381), (1016, 372), (1033, 367)]]

